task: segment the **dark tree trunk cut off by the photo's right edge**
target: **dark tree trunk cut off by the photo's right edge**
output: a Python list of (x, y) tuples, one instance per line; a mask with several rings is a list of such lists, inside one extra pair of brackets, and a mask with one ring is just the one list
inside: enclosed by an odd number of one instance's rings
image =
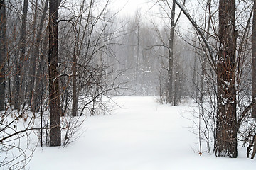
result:
[[(256, 99), (256, 0), (253, 5), (252, 19), (252, 101)], [(256, 105), (252, 106), (252, 118), (256, 118)]]

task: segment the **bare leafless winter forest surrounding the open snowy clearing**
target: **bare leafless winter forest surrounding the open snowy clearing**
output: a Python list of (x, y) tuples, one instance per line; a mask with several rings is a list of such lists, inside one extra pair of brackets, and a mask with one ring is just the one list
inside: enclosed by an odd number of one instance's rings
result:
[(242, 142), (253, 159), (256, 1), (155, 0), (128, 16), (110, 4), (0, 1), (0, 169), (26, 166), (33, 140), (68, 145), (118, 95), (192, 98), (200, 152), (235, 158)]

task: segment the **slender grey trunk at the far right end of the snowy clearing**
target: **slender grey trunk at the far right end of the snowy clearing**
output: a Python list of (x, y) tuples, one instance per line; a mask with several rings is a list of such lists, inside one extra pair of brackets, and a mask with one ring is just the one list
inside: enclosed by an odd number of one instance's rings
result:
[(171, 30), (169, 37), (169, 68), (168, 68), (168, 103), (173, 101), (173, 69), (174, 69), (174, 27), (175, 27), (175, 0), (171, 9)]

